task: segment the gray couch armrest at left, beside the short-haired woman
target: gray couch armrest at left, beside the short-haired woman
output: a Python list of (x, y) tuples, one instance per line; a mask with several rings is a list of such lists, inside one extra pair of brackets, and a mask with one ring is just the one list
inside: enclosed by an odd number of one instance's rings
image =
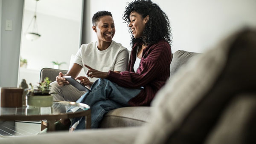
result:
[(44, 81), (44, 78), (48, 77), (50, 81), (55, 81), (56, 76), (59, 75), (59, 72), (63, 74), (67, 73), (67, 70), (61, 69), (51, 69), (51, 68), (43, 68), (40, 72), (40, 82)]

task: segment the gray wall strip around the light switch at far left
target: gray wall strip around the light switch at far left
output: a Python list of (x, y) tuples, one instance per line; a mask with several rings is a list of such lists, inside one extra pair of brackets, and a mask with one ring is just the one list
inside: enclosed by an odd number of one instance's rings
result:
[[(24, 0), (2, 0), (0, 87), (17, 87), (23, 3)], [(12, 31), (5, 30), (6, 20), (12, 20)]]

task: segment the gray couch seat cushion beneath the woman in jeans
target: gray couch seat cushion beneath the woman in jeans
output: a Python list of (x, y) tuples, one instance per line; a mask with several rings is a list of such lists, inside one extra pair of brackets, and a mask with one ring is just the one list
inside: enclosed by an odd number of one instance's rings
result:
[(151, 107), (122, 107), (108, 112), (100, 124), (107, 127), (142, 126), (149, 121)]

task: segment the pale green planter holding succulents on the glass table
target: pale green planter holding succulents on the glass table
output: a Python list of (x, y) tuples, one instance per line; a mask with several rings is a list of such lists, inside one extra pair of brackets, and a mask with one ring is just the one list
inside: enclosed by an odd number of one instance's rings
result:
[(27, 105), (34, 107), (51, 107), (53, 103), (52, 95), (27, 96)]

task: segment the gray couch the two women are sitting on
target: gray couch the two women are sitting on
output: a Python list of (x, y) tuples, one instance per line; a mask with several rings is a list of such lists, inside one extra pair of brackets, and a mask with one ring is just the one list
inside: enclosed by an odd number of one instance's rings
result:
[[(194, 52), (177, 51), (173, 55), (172, 63), (170, 65), (170, 78), (177, 72), (177, 70), (190, 58), (198, 55)], [(67, 73), (67, 70), (43, 68), (41, 69), (40, 81), (43, 81), (45, 77), (48, 77), (51, 81), (55, 81), (59, 72)], [(134, 127), (142, 126), (149, 121), (151, 107), (122, 107), (114, 109), (108, 112), (101, 124), (101, 128), (109, 127)]]

